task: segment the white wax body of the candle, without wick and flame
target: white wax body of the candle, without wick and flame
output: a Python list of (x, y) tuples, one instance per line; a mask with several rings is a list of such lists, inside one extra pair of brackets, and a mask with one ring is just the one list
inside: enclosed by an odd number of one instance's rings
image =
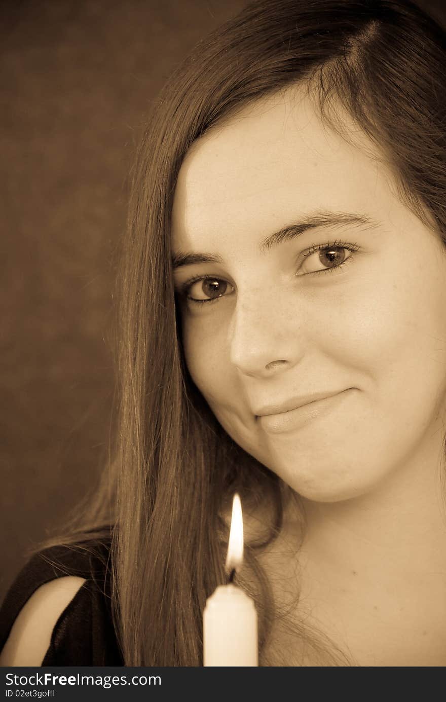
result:
[(258, 665), (257, 612), (237, 585), (220, 585), (206, 601), (204, 665)]

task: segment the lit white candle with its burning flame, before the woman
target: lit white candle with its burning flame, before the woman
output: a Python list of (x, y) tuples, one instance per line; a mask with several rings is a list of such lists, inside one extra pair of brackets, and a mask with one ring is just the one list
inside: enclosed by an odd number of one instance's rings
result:
[(251, 597), (232, 580), (243, 563), (243, 517), (240, 496), (232, 501), (228, 585), (219, 585), (206, 600), (203, 616), (204, 666), (258, 665), (257, 612)]

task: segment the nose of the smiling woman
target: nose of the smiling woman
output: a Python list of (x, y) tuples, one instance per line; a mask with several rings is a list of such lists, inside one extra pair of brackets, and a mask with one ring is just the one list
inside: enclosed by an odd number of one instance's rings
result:
[[(263, 291), (264, 293), (265, 291)], [(296, 300), (240, 289), (229, 328), (230, 362), (247, 376), (268, 378), (303, 355), (303, 319)]]

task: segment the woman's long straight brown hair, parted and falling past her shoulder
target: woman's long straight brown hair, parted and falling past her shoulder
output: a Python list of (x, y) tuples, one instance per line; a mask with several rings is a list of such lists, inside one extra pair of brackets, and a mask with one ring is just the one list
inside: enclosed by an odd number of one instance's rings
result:
[[(122, 242), (111, 457), (65, 538), (112, 524), (126, 665), (202, 665), (202, 611), (224, 582), (222, 515), (235, 490), (244, 509), (270, 508), (239, 583), (256, 598), (261, 665), (281, 664), (262, 654), (278, 610), (256, 554), (280, 532), (289, 493), (221, 428), (183, 357), (169, 232), (185, 154), (223, 118), (299, 83), (332, 128), (342, 131), (337, 107), (348, 110), (407, 205), (445, 240), (445, 65), (444, 32), (409, 1), (260, 0), (202, 41), (164, 88), (138, 150)], [(349, 665), (333, 652), (323, 660)]]

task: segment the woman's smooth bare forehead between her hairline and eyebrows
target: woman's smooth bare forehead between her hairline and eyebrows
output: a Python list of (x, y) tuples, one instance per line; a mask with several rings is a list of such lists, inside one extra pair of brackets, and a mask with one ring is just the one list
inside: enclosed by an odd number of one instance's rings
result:
[[(370, 149), (350, 122), (346, 128)], [(367, 211), (381, 191), (388, 191), (383, 164), (327, 128), (309, 98), (274, 95), (195, 142), (176, 186), (173, 246), (191, 232), (269, 230), (277, 217), (314, 209)]]

